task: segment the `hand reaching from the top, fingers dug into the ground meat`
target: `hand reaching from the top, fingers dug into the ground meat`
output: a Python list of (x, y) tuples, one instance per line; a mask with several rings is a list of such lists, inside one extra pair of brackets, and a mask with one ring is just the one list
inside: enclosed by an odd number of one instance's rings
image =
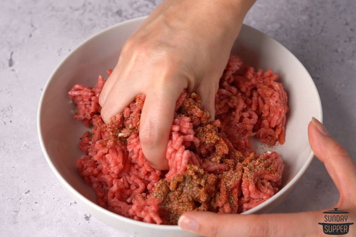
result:
[(101, 116), (109, 123), (145, 94), (139, 134), (153, 168), (168, 169), (167, 142), (184, 89), (197, 92), (214, 118), (220, 76), (254, 1), (166, 0), (125, 43), (99, 97)]

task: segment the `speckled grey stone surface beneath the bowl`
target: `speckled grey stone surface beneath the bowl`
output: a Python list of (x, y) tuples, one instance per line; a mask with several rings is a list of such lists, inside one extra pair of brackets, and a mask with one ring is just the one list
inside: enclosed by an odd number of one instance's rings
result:
[[(105, 2), (105, 3), (100, 3)], [(0, 8), (0, 236), (126, 236), (82, 209), (50, 170), (37, 138), (42, 88), (79, 43), (149, 14), (160, 0), (3, 0)], [(324, 124), (356, 156), (354, 0), (260, 0), (245, 23), (284, 44), (318, 87)], [(338, 193), (316, 158), (274, 212), (328, 208)]]

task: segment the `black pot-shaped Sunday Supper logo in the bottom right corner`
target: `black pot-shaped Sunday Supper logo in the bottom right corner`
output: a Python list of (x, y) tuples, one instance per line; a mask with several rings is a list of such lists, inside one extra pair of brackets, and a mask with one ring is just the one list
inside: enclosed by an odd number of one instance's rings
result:
[(323, 223), (319, 223), (319, 225), (323, 225), (323, 231), (326, 235), (346, 235), (349, 233), (350, 225), (354, 223), (347, 222), (349, 218), (347, 214), (350, 212), (337, 210), (324, 211), (324, 221)]

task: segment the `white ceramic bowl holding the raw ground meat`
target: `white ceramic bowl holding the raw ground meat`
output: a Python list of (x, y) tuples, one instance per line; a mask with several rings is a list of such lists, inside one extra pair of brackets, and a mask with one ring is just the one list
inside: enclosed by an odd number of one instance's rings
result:
[[(127, 38), (145, 20), (145, 17), (119, 23), (89, 38), (73, 50), (54, 70), (43, 90), (38, 107), (38, 136), (52, 171), (67, 188), (69, 194), (84, 209), (104, 223), (136, 237), (194, 236), (178, 226), (144, 223), (117, 215), (98, 206), (93, 189), (82, 179), (75, 166), (75, 159), (82, 154), (77, 147), (80, 136), (87, 128), (74, 120), (67, 91), (77, 83), (94, 85), (99, 74), (116, 64), (120, 50)], [(286, 168), (282, 189), (264, 203), (244, 212), (268, 212), (293, 190), (295, 184), (313, 159), (307, 136), (307, 125), (312, 118), (322, 120), (318, 91), (302, 63), (282, 44), (266, 34), (244, 25), (232, 54), (242, 56), (247, 65), (264, 70), (272, 68), (280, 75), (289, 97), (286, 142), (272, 149), (257, 140), (253, 147), (260, 152), (277, 151)]]

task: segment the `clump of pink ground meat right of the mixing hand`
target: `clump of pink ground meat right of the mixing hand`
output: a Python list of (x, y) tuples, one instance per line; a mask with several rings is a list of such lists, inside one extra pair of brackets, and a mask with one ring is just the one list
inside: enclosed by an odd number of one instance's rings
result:
[(250, 136), (275, 145), (284, 143), (287, 94), (271, 69), (255, 72), (242, 68), (242, 60), (231, 56), (215, 97), (216, 118), (238, 150), (251, 148)]

